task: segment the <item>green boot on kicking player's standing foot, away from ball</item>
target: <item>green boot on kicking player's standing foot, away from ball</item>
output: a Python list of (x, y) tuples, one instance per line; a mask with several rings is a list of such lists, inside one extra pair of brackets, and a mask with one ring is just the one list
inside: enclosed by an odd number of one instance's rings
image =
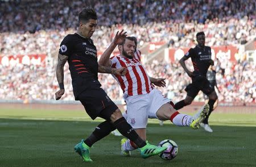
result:
[(84, 143), (84, 140), (78, 143), (74, 149), (85, 162), (92, 162), (92, 159), (90, 158), (90, 147)]

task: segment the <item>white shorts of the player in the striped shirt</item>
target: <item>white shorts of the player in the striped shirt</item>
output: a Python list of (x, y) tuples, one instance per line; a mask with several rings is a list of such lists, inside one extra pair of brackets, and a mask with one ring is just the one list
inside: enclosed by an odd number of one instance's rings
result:
[(148, 118), (157, 118), (156, 111), (170, 100), (153, 89), (148, 94), (133, 95), (125, 98), (127, 105), (127, 122), (134, 129), (146, 128)]

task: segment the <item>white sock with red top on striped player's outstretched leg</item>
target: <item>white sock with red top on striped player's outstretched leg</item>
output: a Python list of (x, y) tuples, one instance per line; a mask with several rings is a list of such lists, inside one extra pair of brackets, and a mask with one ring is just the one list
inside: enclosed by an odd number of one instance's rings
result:
[(192, 116), (175, 112), (171, 115), (170, 120), (176, 126), (189, 126), (192, 120)]

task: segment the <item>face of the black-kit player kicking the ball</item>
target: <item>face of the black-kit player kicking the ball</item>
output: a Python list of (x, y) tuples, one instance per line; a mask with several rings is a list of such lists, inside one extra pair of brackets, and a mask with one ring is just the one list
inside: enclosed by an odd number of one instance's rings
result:
[(97, 20), (94, 19), (89, 19), (89, 21), (86, 23), (80, 23), (79, 27), (82, 36), (88, 38), (92, 37), (94, 31), (96, 30), (97, 23)]

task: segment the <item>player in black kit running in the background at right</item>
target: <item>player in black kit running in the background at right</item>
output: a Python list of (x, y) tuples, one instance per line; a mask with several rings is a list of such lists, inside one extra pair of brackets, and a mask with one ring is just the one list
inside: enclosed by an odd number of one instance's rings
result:
[[(210, 112), (213, 111), (213, 105), (218, 99), (214, 86), (206, 78), (207, 70), (210, 65), (214, 65), (213, 60), (211, 59), (210, 47), (205, 46), (205, 34), (204, 32), (198, 32), (196, 34), (197, 45), (195, 48), (189, 49), (187, 53), (180, 59), (180, 64), (184, 68), (185, 72), (189, 77), (192, 78), (192, 83), (190, 83), (186, 88), (187, 97), (184, 100), (177, 102), (174, 106), (176, 110), (183, 108), (184, 106), (190, 105), (199, 91), (203, 91), (209, 97), (209, 114), (204, 119), (203, 124), (209, 127), (208, 118)], [(185, 60), (188, 60), (191, 57), (194, 71), (191, 72), (188, 70), (185, 65)], [(210, 131), (212, 132), (212, 131)]]

